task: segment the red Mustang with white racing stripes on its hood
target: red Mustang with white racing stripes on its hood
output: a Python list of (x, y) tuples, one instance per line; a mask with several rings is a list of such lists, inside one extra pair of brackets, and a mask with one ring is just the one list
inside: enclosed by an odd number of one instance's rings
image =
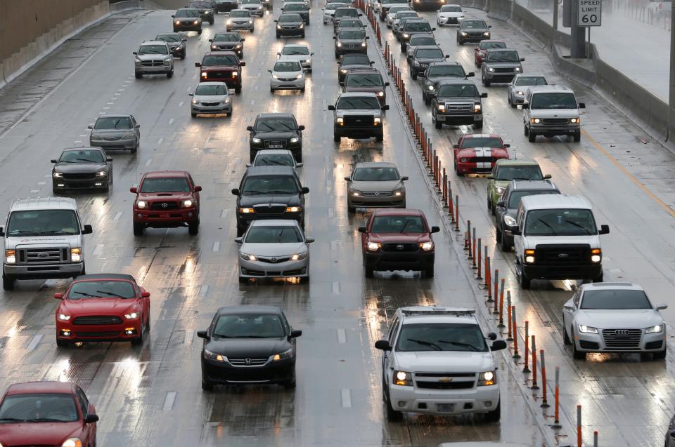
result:
[(455, 173), (487, 174), (499, 159), (508, 159), (508, 147), (499, 135), (462, 135), (452, 145), (455, 156)]

